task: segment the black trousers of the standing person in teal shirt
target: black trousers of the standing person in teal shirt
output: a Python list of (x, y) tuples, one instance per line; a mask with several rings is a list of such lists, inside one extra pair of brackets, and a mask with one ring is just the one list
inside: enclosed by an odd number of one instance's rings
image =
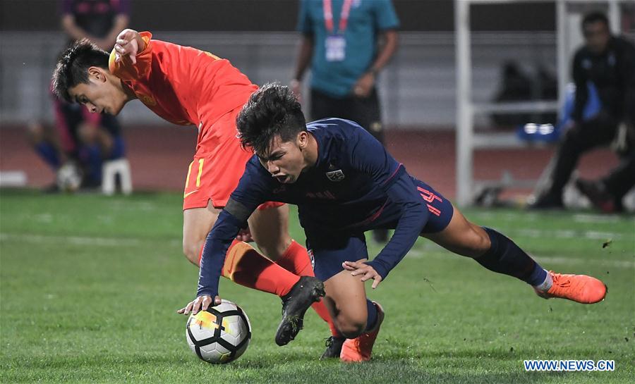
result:
[(313, 120), (320, 118), (352, 120), (384, 144), (379, 97), (377, 97), (377, 89), (375, 88), (368, 97), (349, 95), (341, 99), (311, 89), (310, 117)]

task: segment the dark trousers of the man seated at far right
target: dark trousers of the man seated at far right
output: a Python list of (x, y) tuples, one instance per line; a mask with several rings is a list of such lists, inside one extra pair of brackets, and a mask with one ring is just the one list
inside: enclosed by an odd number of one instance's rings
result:
[[(555, 154), (550, 194), (557, 197), (562, 196), (562, 189), (569, 182), (580, 156), (591, 149), (606, 147), (610, 144), (617, 133), (618, 123), (619, 120), (612, 116), (600, 113), (595, 118), (576, 125), (564, 134)], [(620, 166), (615, 168), (604, 180), (607, 189), (619, 199), (628, 192), (635, 182), (635, 173), (632, 171), (635, 167), (635, 162), (632, 159), (635, 154), (632, 148), (627, 156), (631, 157), (631, 161), (627, 161), (628, 157), (625, 158), (626, 161), (622, 161)]]

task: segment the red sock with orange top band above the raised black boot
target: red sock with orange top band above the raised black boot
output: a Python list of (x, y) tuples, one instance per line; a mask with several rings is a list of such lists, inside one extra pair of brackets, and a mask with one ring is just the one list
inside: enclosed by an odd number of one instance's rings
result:
[(300, 277), (258, 253), (246, 242), (234, 240), (229, 246), (223, 276), (245, 287), (284, 296)]

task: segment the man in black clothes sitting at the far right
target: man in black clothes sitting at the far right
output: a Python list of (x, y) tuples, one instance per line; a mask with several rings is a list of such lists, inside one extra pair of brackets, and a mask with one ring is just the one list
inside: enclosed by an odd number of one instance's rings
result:
[[(635, 123), (635, 46), (611, 35), (603, 13), (588, 13), (581, 27), (585, 44), (573, 60), (576, 94), (571, 124), (550, 163), (550, 185), (533, 197), (530, 208), (563, 208), (562, 190), (581, 154), (617, 142), (622, 163), (602, 180), (579, 180), (576, 185), (603, 211), (622, 211), (622, 198), (635, 184), (634, 143), (629, 139)], [(585, 120), (588, 82), (597, 89), (601, 108)]]

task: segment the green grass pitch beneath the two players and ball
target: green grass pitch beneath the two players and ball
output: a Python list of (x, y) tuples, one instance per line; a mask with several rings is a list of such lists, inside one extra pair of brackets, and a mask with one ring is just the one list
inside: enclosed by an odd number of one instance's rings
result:
[[(280, 300), (224, 280), (222, 297), (247, 311), (253, 338), (243, 357), (212, 366), (188, 349), (186, 317), (175, 314), (198, 275), (181, 253), (178, 194), (0, 191), (0, 382), (632, 383), (634, 218), (466, 216), (509, 235), (545, 268), (603, 279), (607, 299), (540, 299), (519, 280), (421, 239), (369, 294), (386, 310), (373, 361), (317, 359), (329, 332), (313, 312), (294, 342), (277, 347)], [(528, 373), (524, 359), (615, 360), (615, 371)]]

